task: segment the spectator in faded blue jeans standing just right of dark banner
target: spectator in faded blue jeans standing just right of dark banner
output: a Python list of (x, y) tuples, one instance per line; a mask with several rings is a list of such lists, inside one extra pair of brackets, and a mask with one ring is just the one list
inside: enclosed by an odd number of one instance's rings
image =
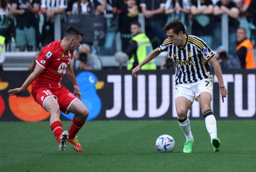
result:
[[(106, 33), (103, 55), (113, 54), (113, 44), (118, 30), (117, 3), (114, 0), (95, 0), (95, 9), (106, 17)], [(114, 49), (115, 51), (115, 49)]]

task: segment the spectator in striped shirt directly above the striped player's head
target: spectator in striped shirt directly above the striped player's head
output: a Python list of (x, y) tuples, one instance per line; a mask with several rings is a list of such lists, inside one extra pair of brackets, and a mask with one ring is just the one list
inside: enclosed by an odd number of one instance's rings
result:
[(188, 30), (188, 16), (190, 13), (190, 0), (166, 0), (165, 14), (167, 14), (167, 22), (173, 19), (179, 19), (184, 23), (185, 29)]

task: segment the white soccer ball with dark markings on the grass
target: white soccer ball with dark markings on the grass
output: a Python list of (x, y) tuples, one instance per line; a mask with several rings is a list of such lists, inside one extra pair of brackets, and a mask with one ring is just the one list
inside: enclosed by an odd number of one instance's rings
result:
[(156, 149), (159, 152), (172, 152), (175, 147), (175, 141), (172, 136), (162, 135), (156, 139)]

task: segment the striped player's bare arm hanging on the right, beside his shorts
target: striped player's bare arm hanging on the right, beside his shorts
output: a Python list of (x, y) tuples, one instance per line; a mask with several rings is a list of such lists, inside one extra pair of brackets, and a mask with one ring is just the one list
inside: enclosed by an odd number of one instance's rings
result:
[(218, 63), (218, 61), (216, 60), (216, 58), (213, 56), (211, 57), (208, 62), (212, 65), (213, 69), (214, 69), (214, 73), (218, 79), (219, 82), (219, 87), (220, 87), (220, 94), (222, 97), (222, 102), (224, 103), (224, 97), (227, 96), (228, 94), (228, 90), (227, 88), (225, 88), (224, 82), (223, 82), (223, 77), (222, 77), (222, 72), (220, 69), (220, 65)]

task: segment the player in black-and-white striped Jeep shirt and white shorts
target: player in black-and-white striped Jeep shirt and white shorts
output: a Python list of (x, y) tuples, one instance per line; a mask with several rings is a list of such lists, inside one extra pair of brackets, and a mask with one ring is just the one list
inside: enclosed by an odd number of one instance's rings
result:
[(178, 123), (186, 137), (183, 152), (191, 153), (194, 138), (190, 129), (190, 121), (187, 116), (194, 99), (199, 102), (202, 114), (205, 118), (205, 126), (211, 138), (213, 151), (220, 150), (220, 139), (217, 137), (216, 119), (211, 110), (212, 77), (208, 63), (213, 66), (218, 79), (222, 102), (227, 96), (222, 72), (214, 57), (213, 51), (199, 37), (185, 33), (184, 24), (177, 19), (172, 20), (163, 28), (167, 39), (163, 44), (153, 50), (137, 67), (132, 70), (132, 75), (137, 78), (137, 72), (161, 52), (166, 51), (175, 63), (175, 88), (176, 111)]

